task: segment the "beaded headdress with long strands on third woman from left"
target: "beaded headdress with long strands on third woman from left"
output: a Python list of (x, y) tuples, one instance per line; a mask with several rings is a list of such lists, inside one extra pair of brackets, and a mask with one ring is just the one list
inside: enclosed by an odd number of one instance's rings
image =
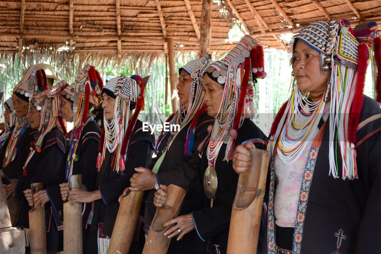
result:
[(40, 126), (38, 127), (38, 135), (32, 142), (30, 153), (24, 163), (24, 172), (26, 174), (26, 166), (35, 152), (41, 152), (41, 145), (45, 135), (54, 128), (61, 117), (61, 90), (65, 87), (65, 81), (59, 81), (51, 88), (39, 91), (30, 99), (30, 103), (40, 111)]

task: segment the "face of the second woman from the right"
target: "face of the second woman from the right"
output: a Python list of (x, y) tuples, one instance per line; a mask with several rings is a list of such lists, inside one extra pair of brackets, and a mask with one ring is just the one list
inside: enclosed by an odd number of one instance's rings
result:
[(208, 77), (208, 75), (204, 75), (203, 77), (202, 88), (205, 92), (204, 102), (208, 106), (208, 115), (210, 117), (216, 117), (224, 95), (224, 88)]

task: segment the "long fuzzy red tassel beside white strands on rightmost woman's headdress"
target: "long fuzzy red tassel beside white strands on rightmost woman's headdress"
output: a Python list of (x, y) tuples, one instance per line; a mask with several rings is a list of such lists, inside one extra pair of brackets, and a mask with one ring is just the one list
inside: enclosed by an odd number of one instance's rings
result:
[(368, 67), (367, 46), (361, 43), (357, 48), (359, 50), (359, 62), (357, 63), (355, 95), (353, 97), (348, 123), (348, 141), (351, 143), (356, 142), (357, 125), (359, 125), (364, 100), (363, 91), (365, 85), (365, 73), (367, 72)]

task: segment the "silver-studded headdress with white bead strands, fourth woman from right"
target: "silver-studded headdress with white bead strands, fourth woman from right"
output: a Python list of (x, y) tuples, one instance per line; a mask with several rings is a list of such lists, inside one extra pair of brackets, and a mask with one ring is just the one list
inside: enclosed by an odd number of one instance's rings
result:
[[(132, 77), (132, 78), (131, 78)], [(116, 157), (112, 160), (111, 166), (116, 170), (124, 171), (128, 141), (132, 130), (138, 119), (139, 112), (144, 110), (144, 96), (148, 77), (141, 78), (138, 75), (126, 77), (117, 76), (104, 85), (102, 91), (110, 91), (116, 96), (114, 107), (114, 118), (107, 120), (104, 118), (104, 128), (102, 129), (99, 142), (97, 168), (100, 169), (104, 160), (106, 149)], [(135, 112), (129, 121), (131, 102), (134, 102)], [(118, 166), (115, 166), (115, 162)]]

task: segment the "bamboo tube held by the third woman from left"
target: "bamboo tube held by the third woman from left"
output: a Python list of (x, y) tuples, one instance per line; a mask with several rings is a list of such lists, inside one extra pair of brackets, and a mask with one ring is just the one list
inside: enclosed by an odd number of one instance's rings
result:
[[(43, 190), (42, 182), (30, 184), (32, 195)], [(46, 253), (45, 208), (38, 206), (29, 211), (30, 253)]]

